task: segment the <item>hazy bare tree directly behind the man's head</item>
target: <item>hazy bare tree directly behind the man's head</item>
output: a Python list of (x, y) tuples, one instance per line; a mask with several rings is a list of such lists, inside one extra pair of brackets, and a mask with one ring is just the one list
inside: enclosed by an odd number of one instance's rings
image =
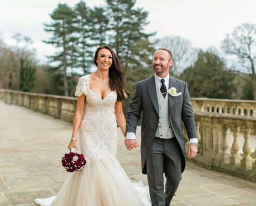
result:
[(192, 42), (179, 36), (165, 36), (159, 39), (157, 48), (171, 50), (174, 61), (171, 71), (174, 74), (182, 72), (197, 60), (198, 51), (193, 48)]

